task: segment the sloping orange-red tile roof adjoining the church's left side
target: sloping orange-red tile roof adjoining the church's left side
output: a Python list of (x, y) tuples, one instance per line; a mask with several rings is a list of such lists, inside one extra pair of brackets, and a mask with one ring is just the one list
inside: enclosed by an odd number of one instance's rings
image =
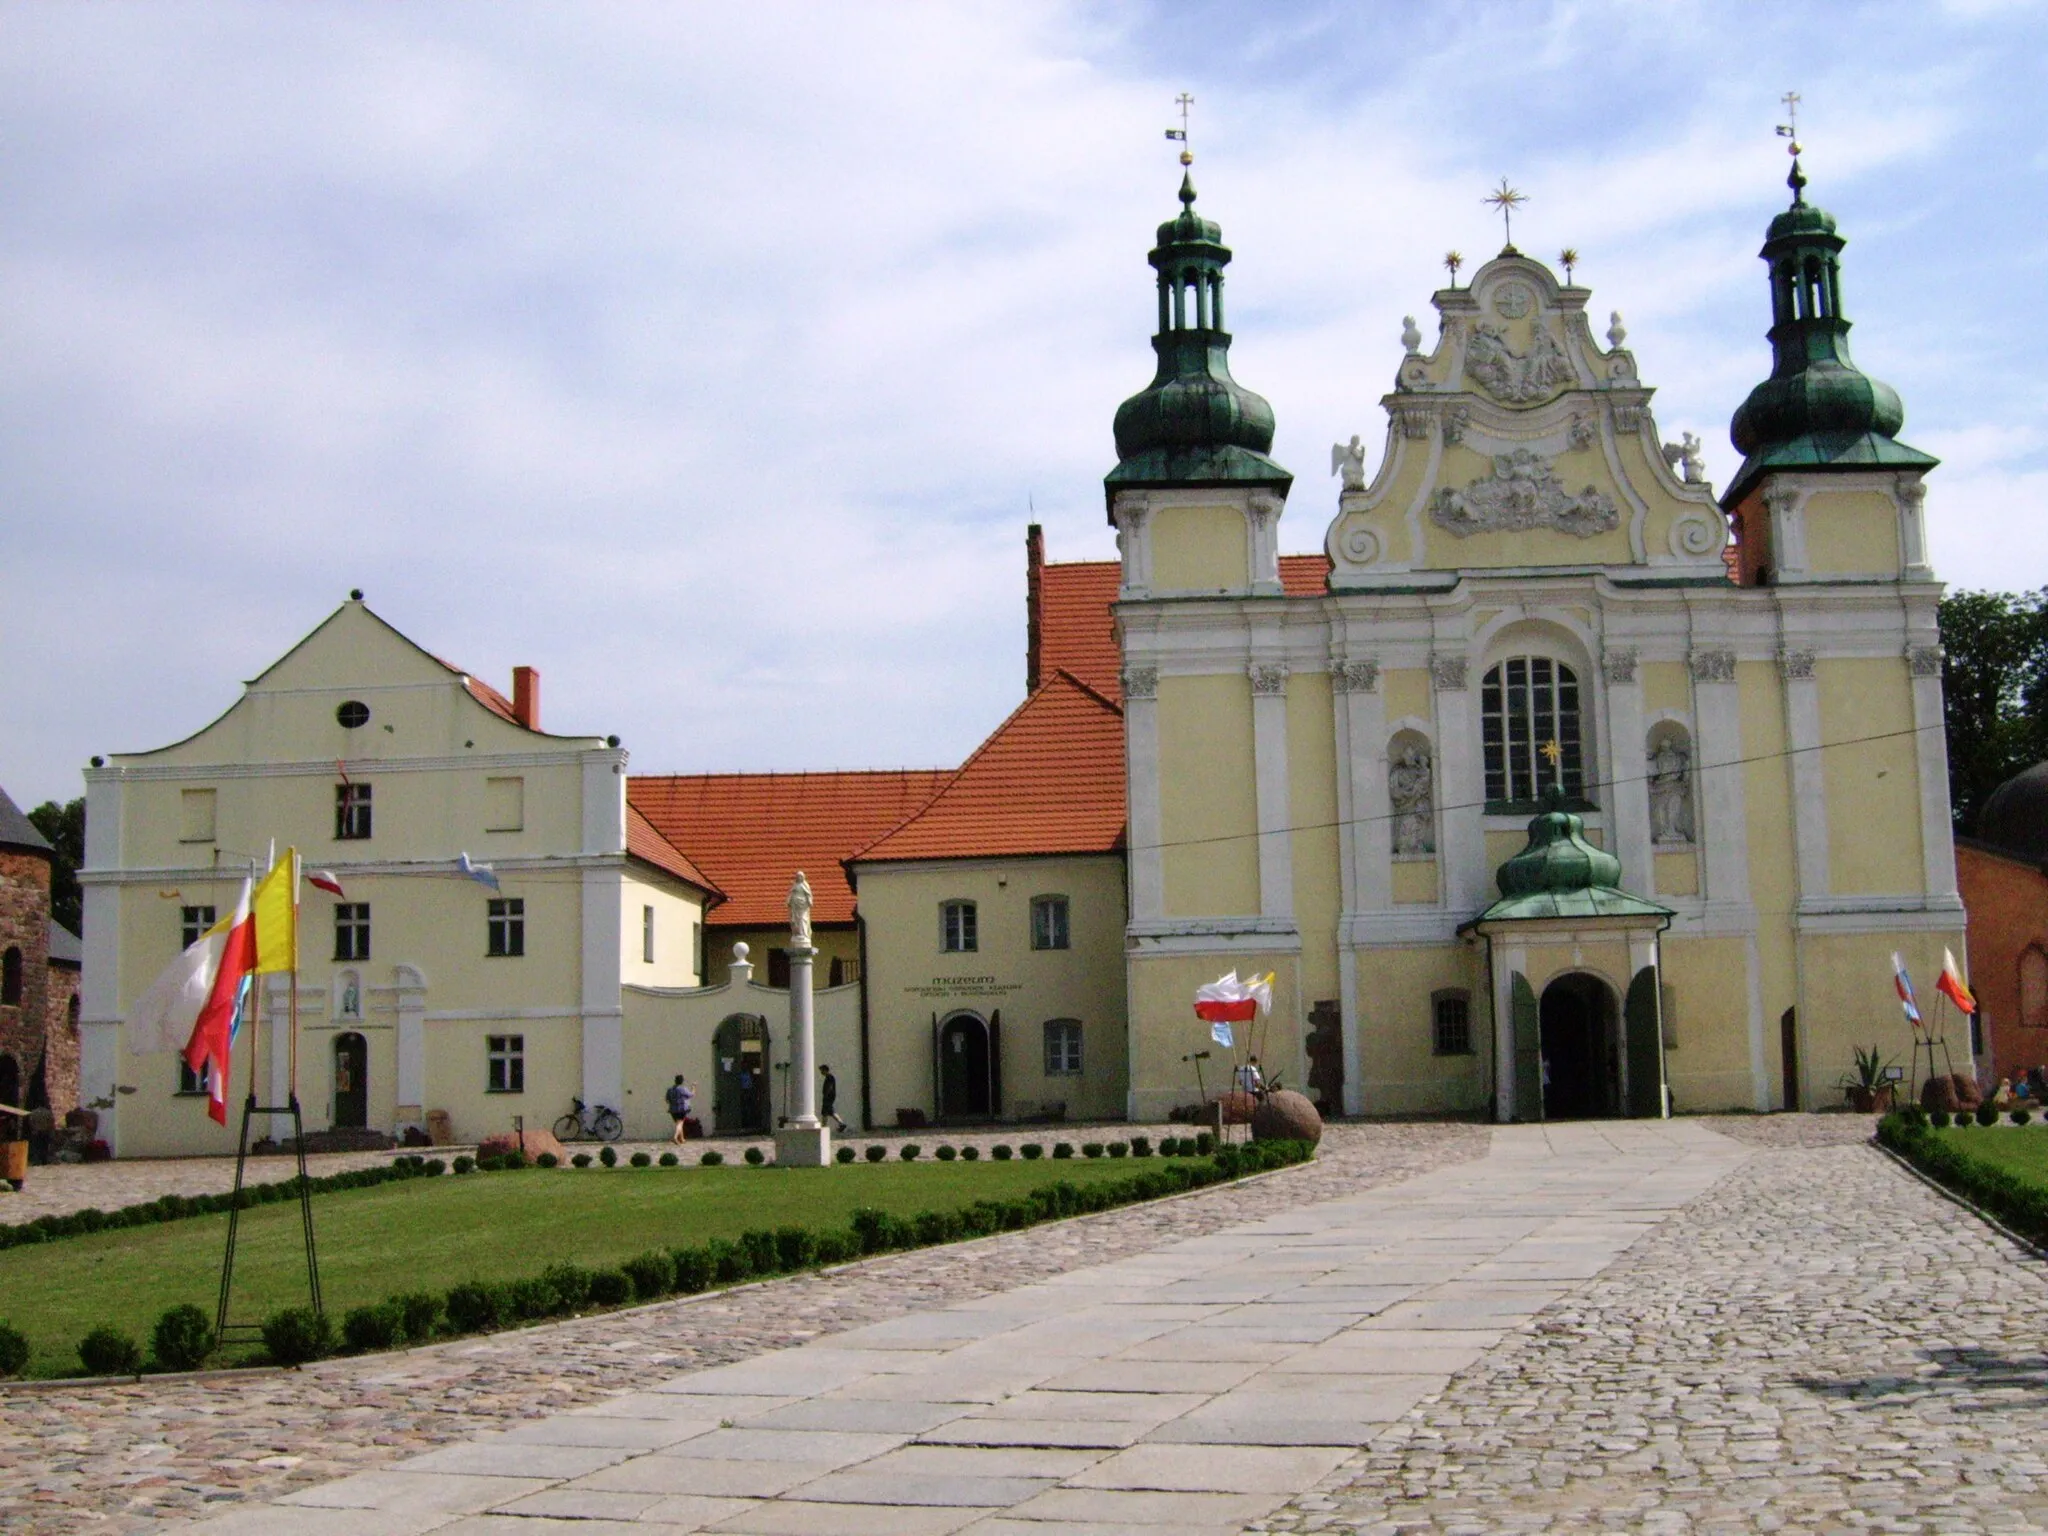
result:
[(1071, 672), (1053, 672), (930, 805), (848, 862), (1122, 846), (1124, 715)]

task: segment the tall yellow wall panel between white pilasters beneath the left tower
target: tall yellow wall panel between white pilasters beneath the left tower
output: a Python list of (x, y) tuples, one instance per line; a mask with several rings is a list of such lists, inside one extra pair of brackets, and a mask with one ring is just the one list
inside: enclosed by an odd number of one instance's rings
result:
[(1159, 678), (1159, 836), (1165, 911), (1260, 911), (1251, 680)]

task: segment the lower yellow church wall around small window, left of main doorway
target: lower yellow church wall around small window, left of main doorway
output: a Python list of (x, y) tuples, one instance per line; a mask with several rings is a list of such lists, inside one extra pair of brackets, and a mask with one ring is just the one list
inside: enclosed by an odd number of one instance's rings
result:
[[(1466, 993), (1473, 1024), (1470, 1055), (1436, 1055), (1432, 997), (1444, 989)], [(1493, 1069), (1485, 946), (1360, 950), (1358, 1061), (1366, 1114), (1485, 1108)]]

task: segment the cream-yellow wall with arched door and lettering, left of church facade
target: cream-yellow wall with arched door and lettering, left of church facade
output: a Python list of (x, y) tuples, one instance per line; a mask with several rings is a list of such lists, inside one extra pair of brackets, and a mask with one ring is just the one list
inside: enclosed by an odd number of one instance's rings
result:
[[(1067, 897), (1065, 950), (1030, 946), (1030, 903)], [(940, 950), (942, 901), (973, 901), (979, 948)], [(860, 870), (868, 926), (868, 1069), (874, 1118), (932, 1114), (932, 1016), (1001, 1012), (1004, 1118), (1067, 1106), (1120, 1118), (1128, 1085), (1124, 862), (1118, 856), (905, 864)], [(1044, 1024), (1081, 1022), (1079, 1075), (1047, 1075)], [(844, 1112), (844, 1110), (842, 1110)]]

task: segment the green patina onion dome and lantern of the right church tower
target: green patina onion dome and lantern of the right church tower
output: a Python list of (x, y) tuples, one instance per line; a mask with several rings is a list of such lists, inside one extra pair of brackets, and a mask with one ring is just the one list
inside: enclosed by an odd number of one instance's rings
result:
[(1759, 256), (1772, 268), (1772, 377), (1749, 391), (1729, 436), (1743, 467), (1720, 498), (1735, 508), (1772, 469), (1929, 469), (1937, 461), (1896, 440), (1898, 391), (1849, 360), (1835, 219), (1806, 201), (1798, 162), (1792, 207), (1772, 219)]

